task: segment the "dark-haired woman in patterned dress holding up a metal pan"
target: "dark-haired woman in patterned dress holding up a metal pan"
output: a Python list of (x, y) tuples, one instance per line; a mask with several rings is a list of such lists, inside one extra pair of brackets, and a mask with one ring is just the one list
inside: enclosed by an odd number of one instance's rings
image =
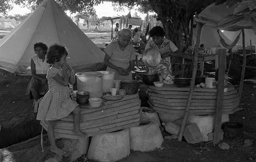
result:
[(176, 52), (178, 48), (172, 41), (164, 38), (165, 32), (160, 26), (152, 28), (148, 34), (152, 37), (152, 40), (147, 42), (145, 50), (156, 49), (161, 55), (160, 64), (154, 68), (150, 68), (149, 72), (158, 73), (164, 80), (174, 78), (172, 75), (172, 64), (170, 63), (171, 56), (168, 53)]

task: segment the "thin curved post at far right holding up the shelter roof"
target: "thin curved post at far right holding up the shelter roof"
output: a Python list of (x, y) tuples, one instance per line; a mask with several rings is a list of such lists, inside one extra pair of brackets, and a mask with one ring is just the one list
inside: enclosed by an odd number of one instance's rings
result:
[(239, 101), (241, 100), (241, 96), (242, 96), (242, 90), (244, 86), (244, 73), (245, 73), (245, 66), (246, 66), (244, 29), (242, 29), (242, 38), (243, 38), (242, 39), (243, 40), (243, 67), (242, 67), (241, 81), (240, 81), (239, 92), (238, 92)]

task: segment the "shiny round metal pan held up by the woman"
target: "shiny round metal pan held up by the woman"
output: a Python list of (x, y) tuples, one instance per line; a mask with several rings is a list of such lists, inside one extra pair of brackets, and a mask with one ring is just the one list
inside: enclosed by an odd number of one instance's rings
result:
[(142, 61), (147, 67), (156, 67), (161, 61), (161, 55), (156, 49), (146, 49), (142, 55)]

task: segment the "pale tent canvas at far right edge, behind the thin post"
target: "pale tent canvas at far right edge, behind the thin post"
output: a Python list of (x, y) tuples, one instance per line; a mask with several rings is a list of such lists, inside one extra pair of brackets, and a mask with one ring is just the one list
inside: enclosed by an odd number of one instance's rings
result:
[[(241, 32), (241, 30), (236, 31), (236, 32), (231, 32), (231, 31), (223, 31), (223, 34), (228, 37), (230, 40), (234, 40), (237, 38), (237, 35)], [(244, 29), (244, 34), (245, 34), (245, 45), (250, 45), (250, 40), (251, 40), (251, 45), (256, 45), (256, 35), (254, 34), (252, 29)], [(240, 39), (238, 40), (237, 44), (242, 45), (242, 34), (240, 35)]]

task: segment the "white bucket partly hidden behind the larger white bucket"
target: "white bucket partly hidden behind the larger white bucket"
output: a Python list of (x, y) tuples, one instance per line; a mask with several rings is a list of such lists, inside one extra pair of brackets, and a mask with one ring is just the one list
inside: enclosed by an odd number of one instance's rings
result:
[(110, 88), (114, 88), (115, 72), (97, 71), (103, 74), (103, 93), (110, 92)]

